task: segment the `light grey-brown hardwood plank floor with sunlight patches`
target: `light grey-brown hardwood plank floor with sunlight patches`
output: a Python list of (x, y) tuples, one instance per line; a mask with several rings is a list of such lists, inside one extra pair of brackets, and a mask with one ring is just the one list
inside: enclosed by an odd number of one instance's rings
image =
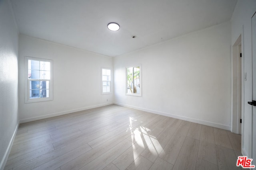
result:
[(5, 170), (234, 170), (241, 136), (110, 105), (20, 124)]

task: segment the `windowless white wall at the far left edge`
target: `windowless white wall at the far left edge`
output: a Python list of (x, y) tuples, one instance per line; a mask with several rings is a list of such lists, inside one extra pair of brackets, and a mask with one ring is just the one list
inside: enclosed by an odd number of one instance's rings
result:
[(8, 0), (0, 0), (0, 169), (18, 125), (18, 28)]

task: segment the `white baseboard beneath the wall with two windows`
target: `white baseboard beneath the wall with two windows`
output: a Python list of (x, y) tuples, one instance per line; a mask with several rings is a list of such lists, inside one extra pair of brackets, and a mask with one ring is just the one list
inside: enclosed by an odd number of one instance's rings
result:
[(26, 123), (26, 122), (36, 121), (36, 120), (40, 120), (40, 119), (46, 119), (46, 118), (49, 118), (49, 117), (65, 115), (65, 114), (74, 113), (74, 112), (77, 112), (77, 111), (93, 109), (93, 108), (96, 108), (96, 107), (108, 106), (108, 105), (111, 105), (111, 104), (114, 104), (114, 103), (111, 102), (111, 103), (99, 104), (99, 105), (94, 105), (94, 106), (83, 107), (83, 108), (80, 108), (80, 109), (73, 109), (73, 110), (61, 111), (61, 112), (58, 112), (58, 113), (52, 113), (52, 114), (43, 115), (43, 116), (31, 117), (31, 118), (28, 118), (28, 119), (20, 120), (20, 123)]

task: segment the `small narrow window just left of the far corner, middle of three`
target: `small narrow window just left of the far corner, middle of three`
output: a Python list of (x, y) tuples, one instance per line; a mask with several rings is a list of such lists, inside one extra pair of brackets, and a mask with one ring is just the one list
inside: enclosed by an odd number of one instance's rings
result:
[(111, 69), (101, 68), (101, 94), (111, 93)]

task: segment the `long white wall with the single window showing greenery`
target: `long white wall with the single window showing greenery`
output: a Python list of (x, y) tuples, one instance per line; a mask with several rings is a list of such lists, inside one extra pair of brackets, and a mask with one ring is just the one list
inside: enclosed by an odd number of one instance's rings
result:
[[(230, 130), (230, 22), (114, 58), (115, 102)], [(125, 67), (142, 64), (142, 97), (127, 96)]]

